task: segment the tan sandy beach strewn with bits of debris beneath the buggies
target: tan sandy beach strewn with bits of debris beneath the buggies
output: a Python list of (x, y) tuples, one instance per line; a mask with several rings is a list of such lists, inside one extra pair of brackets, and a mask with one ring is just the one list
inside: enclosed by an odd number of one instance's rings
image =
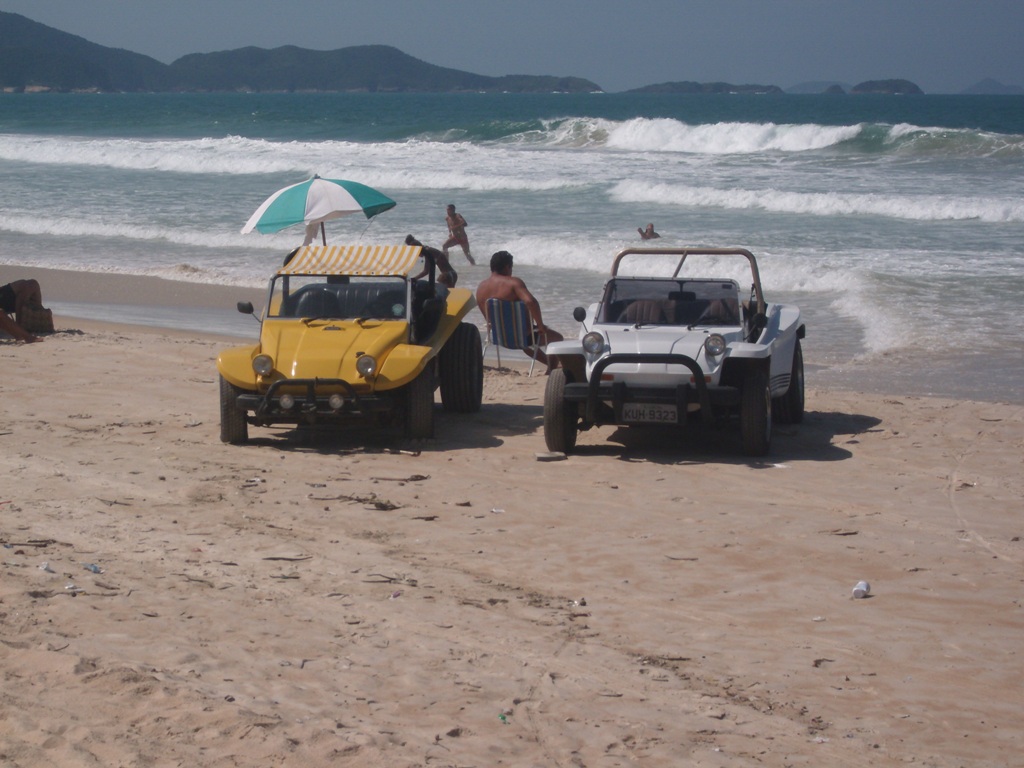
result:
[(809, 376), (765, 461), (604, 428), (548, 462), (545, 377), (490, 364), (431, 440), (230, 446), (239, 342), (55, 322), (0, 339), (2, 765), (1021, 763), (1019, 403)]

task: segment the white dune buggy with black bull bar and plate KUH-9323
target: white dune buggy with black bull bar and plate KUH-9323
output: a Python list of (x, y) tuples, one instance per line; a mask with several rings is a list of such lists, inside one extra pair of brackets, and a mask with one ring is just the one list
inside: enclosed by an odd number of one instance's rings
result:
[[(734, 266), (733, 258), (752, 276), (746, 299), (734, 279), (688, 276), (707, 263), (731, 273), (723, 264)], [(573, 316), (580, 338), (547, 348), (555, 366), (544, 397), (550, 451), (570, 452), (578, 431), (604, 424), (712, 426), (738, 417), (743, 453), (763, 456), (773, 418), (803, 419), (800, 309), (765, 300), (750, 251), (627, 249), (601, 301)]]

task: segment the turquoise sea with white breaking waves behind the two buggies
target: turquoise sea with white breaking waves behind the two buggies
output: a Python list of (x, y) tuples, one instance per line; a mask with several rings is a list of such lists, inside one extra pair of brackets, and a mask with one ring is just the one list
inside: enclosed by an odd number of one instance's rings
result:
[(439, 245), (455, 203), (478, 260), (511, 251), (563, 332), (651, 221), (659, 245), (758, 255), (805, 314), (812, 386), (1024, 401), (1020, 96), (8, 94), (0, 279), (262, 285), (301, 228), (239, 230), (313, 173), (398, 202), (332, 243)]

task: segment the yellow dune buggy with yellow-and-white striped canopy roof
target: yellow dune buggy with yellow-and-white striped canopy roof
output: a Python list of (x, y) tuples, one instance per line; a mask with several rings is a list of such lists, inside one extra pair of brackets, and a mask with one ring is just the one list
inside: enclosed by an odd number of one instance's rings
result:
[[(217, 357), (220, 439), (243, 443), (250, 425), (358, 421), (430, 437), (438, 387), (445, 411), (479, 411), (480, 333), (463, 322), (473, 293), (435, 280), (432, 251), (305, 246), (289, 254), (270, 279), (259, 343)], [(239, 310), (253, 307), (240, 302)]]

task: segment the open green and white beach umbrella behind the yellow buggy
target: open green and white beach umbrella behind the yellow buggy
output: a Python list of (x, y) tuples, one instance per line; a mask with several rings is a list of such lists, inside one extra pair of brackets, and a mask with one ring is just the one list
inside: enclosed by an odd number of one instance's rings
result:
[(267, 234), (295, 224), (305, 224), (308, 243), (317, 228), (324, 231), (325, 221), (356, 213), (370, 219), (396, 205), (387, 196), (357, 181), (313, 176), (279, 189), (264, 200), (242, 227), (242, 233), (256, 229)]

